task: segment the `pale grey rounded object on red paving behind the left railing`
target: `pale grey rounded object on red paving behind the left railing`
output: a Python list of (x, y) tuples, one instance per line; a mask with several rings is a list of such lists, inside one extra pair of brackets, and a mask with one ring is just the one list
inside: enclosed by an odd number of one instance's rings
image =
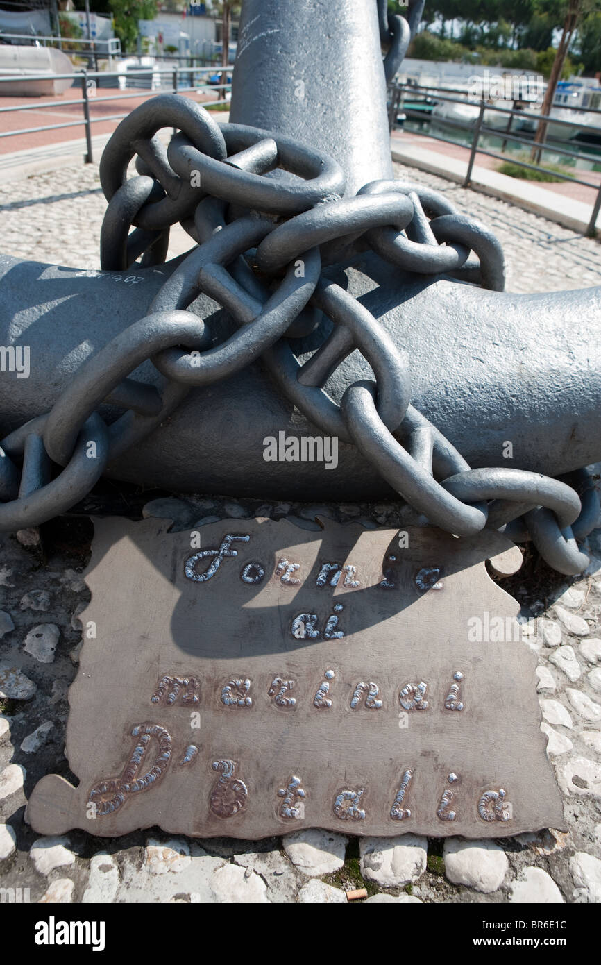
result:
[[(14, 82), (2, 81), (0, 96), (40, 97), (63, 94), (73, 81), (70, 77), (56, 77), (56, 74), (61, 73), (73, 73), (73, 65), (62, 50), (33, 44), (0, 44), (0, 77), (14, 77)], [(41, 79), (27, 80), (28, 77)]]

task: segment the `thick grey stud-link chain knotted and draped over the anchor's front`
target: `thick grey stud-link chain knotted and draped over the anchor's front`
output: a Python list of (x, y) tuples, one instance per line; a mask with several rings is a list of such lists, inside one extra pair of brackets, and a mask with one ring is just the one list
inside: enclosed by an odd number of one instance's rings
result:
[[(379, 2), (378, 9), (382, 14)], [(172, 126), (178, 133), (166, 149), (157, 134)], [(138, 176), (127, 179), (134, 155)], [(276, 169), (297, 177), (264, 177)], [(406, 353), (321, 272), (322, 262), (341, 261), (360, 245), (403, 271), (445, 272), (503, 290), (503, 251), (486, 228), (409, 181), (374, 181), (342, 198), (344, 179), (332, 158), (281, 134), (218, 125), (175, 95), (152, 98), (119, 125), (100, 180), (108, 201), (102, 268), (128, 269), (139, 258), (143, 266), (163, 262), (177, 222), (196, 247), (158, 291), (149, 315), (89, 358), (49, 413), (2, 441), (0, 530), (39, 525), (68, 510), (191, 386), (210, 385), (261, 358), (287, 400), (322, 432), (355, 445), (430, 523), (459, 537), (484, 527), (516, 540), (530, 536), (560, 572), (587, 566), (576, 537), (593, 528), (599, 510), (587, 474), (571, 479), (581, 502), (571, 485), (538, 473), (471, 469), (411, 405)], [(201, 293), (237, 325), (220, 345), (187, 311)], [(301, 364), (289, 340), (314, 330), (314, 309), (333, 329)], [(375, 381), (349, 385), (339, 405), (324, 386), (355, 349)], [(148, 359), (161, 374), (158, 388), (130, 377)], [(96, 411), (102, 403), (125, 411), (107, 426)], [(52, 463), (63, 467), (54, 479)]]

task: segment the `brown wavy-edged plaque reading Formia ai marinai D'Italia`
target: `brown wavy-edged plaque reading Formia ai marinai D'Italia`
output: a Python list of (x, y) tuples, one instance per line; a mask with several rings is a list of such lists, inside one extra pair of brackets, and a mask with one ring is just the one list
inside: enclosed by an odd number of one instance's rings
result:
[[(519, 551), (323, 520), (96, 520), (69, 691), (79, 786), (34, 789), (41, 834), (159, 825), (498, 838), (563, 825), (518, 606)], [(494, 627), (494, 632), (492, 628)]]

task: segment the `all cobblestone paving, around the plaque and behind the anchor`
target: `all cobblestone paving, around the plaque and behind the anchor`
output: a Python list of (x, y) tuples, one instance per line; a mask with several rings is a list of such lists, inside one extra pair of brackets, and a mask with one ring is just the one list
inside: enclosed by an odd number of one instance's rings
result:
[[(444, 188), (498, 232), (511, 268), (508, 288), (601, 283), (596, 242), (440, 178), (400, 167), (397, 173)], [(97, 266), (104, 202), (96, 168), (15, 181), (0, 200), (3, 251)], [(144, 515), (176, 518), (178, 529), (255, 514), (311, 527), (316, 511), (371, 527), (397, 518), (388, 504), (315, 508), (200, 498), (154, 501)], [(27, 796), (43, 774), (73, 780), (64, 747), (68, 685), (81, 647), (77, 614), (89, 599), (81, 571), (90, 533), (82, 527), (74, 537), (65, 523), (52, 530), (43, 557), (14, 536), (0, 537), (3, 888), (29, 889), (24, 899), (41, 902), (344, 902), (356, 888), (367, 888), (372, 902), (601, 901), (601, 530), (587, 540), (591, 564), (579, 578), (537, 569), (531, 559), (523, 584), (519, 577), (510, 588), (538, 658), (541, 728), (564, 796), (567, 834), (443, 843), (312, 830), (249, 843), (173, 838), (156, 829), (119, 840), (83, 832), (40, 838), (27, 824)]]

